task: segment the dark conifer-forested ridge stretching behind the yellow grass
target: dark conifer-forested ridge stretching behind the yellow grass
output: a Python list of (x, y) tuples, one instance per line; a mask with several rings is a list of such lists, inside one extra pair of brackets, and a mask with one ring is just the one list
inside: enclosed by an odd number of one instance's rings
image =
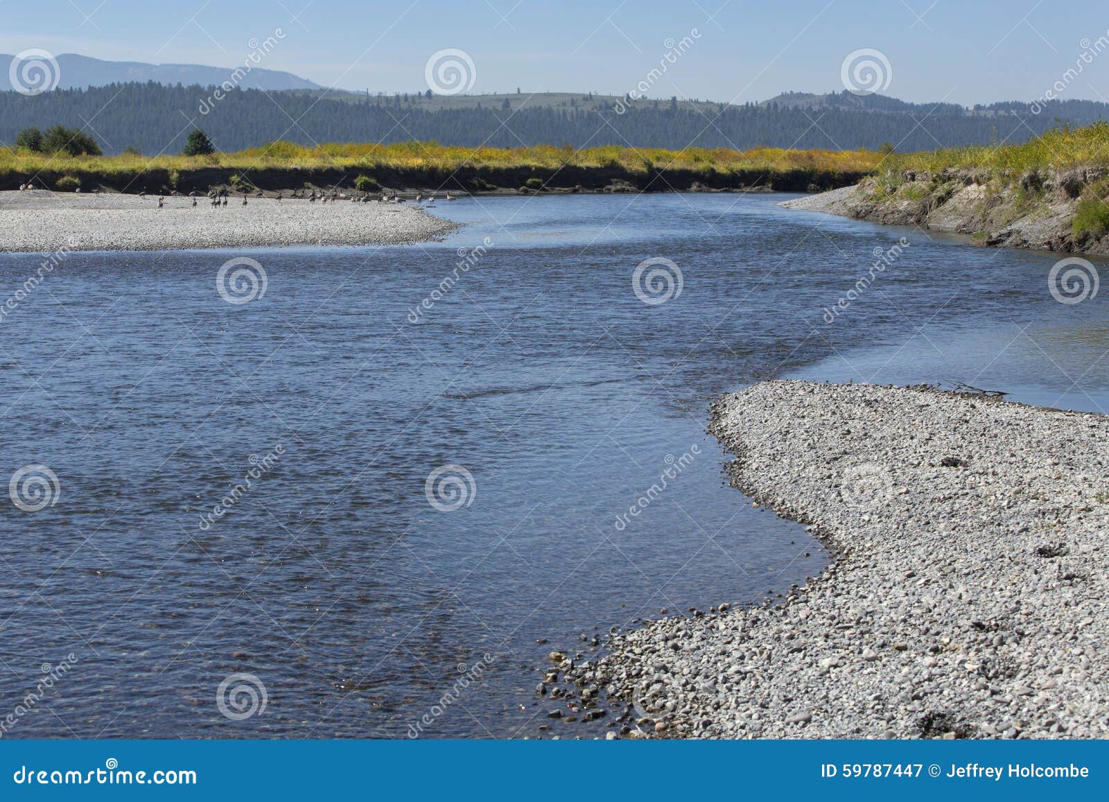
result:
[[(302, 144), (415, 139), (499, 148), (615, 144), (854, 150), (877, 149), (888, 142), (904, 152), (995, 141), (1019, 143), (1060, 120), (1083, 124), (1109, 116), (1109, 106), (1089, 101), (1052, 101), (1034, 114), (1026, 103), (966, 110), (901, 101), (893, 105), (837, 104), (826, 100), (835, 95), (807, 95), (825, 100), (747, 105), (640, 101), (619, 114), (611, 103), (543, 106), (527, 102), (526, 94), (505, 97), (494, 104), (496, 108), (437, 108), (418, 94), (352, 98), (234, 90), (222, 100), (212, 94), (211, 88), (152, 82), (55, 90), (34, 97), (0, 92), (0, 142), (10, 145), (24, 128), (63, 124), (84, 128), (105, 153), (131, 146), (154, 155), (180, 152), (189, 131), (199, 125), (222, 151), (278, 139)], [(211, 111), (202, 114), (202, 105)]]

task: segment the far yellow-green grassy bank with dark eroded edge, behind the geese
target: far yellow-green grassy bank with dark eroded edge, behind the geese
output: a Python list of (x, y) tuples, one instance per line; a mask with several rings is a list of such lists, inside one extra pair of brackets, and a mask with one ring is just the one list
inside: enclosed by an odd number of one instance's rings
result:
[[(273, 142), (206, 156), (50, 155), (0, 151), (0, 189), (33, 180), (43, 189), (139, 192), (207, 191), (240, 185), (263, 190), (353, 187), (359, 175), (390, 189), (460, 192), (495, 190), (775, 189), (806, 191), (857, 182), (874, 170), (873, 151), (750, 151), (570, 146), (457, 148), (434, 142), (324, 144)], [(366, 185), (366, 182), (364, 182)]]

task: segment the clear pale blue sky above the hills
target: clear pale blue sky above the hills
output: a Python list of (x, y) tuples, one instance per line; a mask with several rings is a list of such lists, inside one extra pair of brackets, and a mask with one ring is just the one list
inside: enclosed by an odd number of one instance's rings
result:
[[(838, 91), (859, 49), (888, 60), (884, 94), (1030, 101), (1109, 41), (1105, 0), (0, 0), (0, 52), (224, 67), (281, 29), (260, 67), (386, 92), (423, 91), (428, 58), (454, 48), (470, 92), (624, 94), (696, 29), (645, 94), (732, 102)], [(1066, 83), (1064, 98), (1109, 99), (1109, 49)]]

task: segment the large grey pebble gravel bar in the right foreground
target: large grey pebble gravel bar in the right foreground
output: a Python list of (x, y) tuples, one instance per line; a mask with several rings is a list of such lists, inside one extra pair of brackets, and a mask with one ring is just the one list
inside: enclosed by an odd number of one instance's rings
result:
[(1109, 737), (1109, 417), (791, 380), (725, 396), (710, 432), (838, 556), (774, 607), (561, 663), (631, 703), (624, 737)]

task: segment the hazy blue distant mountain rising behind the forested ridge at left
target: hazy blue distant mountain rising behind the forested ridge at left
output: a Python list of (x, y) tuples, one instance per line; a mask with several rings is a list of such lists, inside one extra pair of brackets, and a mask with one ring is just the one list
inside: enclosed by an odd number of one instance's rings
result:
[[(14, 57), (0, 53), (0, 91), (11, 90), (9, 67)], [(78, 53), (61, 53), (54, 59), (58, 62), (58, 89), (84, 89), (88, 87), (106, 87), (111, 83), (129, 83), (154, 81), (173, 85), (200, 84), (202, 87), (221, 84), (231, 80), (236, 68), (203, 67), (201, 64), (145, 64), (140, 61), (102, 61), (90, 59)], [(242, 65), (240, 65), (241, 68)], [(51, 68), (52, 69), (52, 68)], [(242, 75), (236, 85), (243, 89), (264, 89), (276, 91), (283, 89), (322, 89), (304, 78), (279, 70), (253, 68)]]

